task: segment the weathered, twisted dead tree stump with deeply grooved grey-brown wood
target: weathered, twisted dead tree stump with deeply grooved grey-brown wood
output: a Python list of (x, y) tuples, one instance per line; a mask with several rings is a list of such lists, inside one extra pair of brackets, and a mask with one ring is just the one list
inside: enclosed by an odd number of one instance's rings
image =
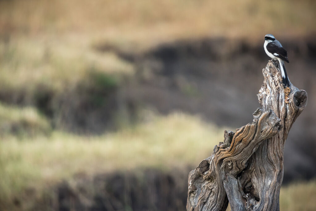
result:
[(262, 109), (253, 122), (236, 133), (224, 132), (224, 142), (192, 170), (188, 178), (187, 210), (279, 210), (283, 180), (283, 149), (289, 130), (307, 104), (307, 93), (292, 84), (283, 88), (278, 63), (263, 69), (258, 99)]

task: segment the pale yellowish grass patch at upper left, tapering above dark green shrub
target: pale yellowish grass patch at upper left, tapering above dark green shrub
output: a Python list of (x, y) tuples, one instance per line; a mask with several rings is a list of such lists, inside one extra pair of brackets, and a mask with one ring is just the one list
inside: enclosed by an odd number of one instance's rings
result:
[(114, 53), (96, 53), (88, 46), (75, 45), (74, 42), (48, 42), (44, 38), (0, 42), (2, 92), (12, 90), (15, 93), (23, 89), (27, 95), (36, 92), (36, 86), (43, 84), (58, 93), (76, 86), (93, 71), (133, 73), (133, 65), (120, 60)]

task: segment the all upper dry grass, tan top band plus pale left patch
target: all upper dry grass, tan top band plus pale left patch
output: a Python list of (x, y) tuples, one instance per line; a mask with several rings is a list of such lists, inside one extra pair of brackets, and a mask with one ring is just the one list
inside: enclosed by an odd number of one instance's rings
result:
[(91, 69), (134, 73), (115, 53), (93, 50), (101, 44), (137, 52), (185, 38), (312, 34), (315, 8), (307, 0), (0, 1), (0, 91), (28, 97), (44, 84), (60, 93)]

